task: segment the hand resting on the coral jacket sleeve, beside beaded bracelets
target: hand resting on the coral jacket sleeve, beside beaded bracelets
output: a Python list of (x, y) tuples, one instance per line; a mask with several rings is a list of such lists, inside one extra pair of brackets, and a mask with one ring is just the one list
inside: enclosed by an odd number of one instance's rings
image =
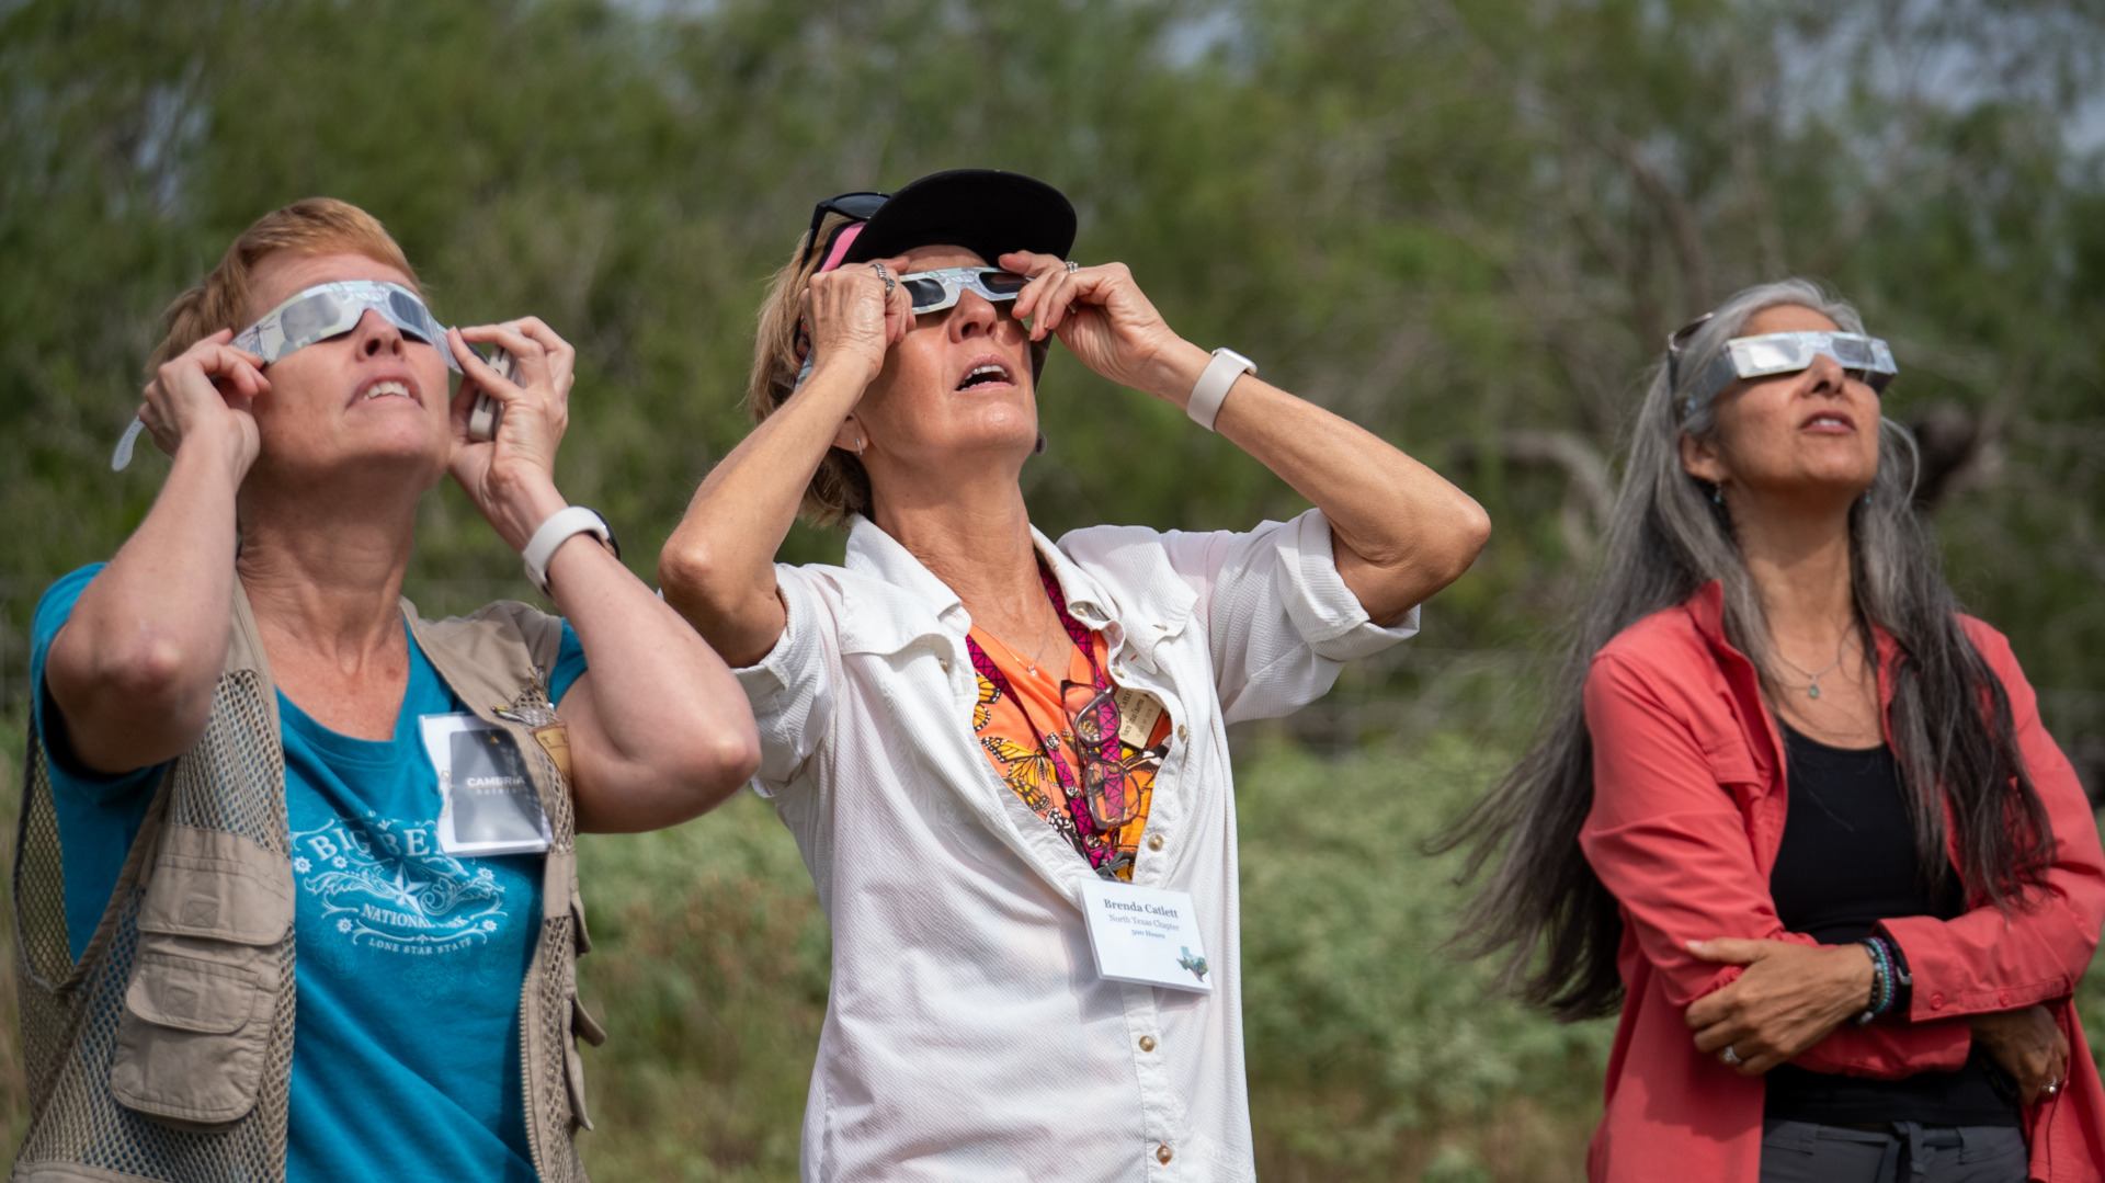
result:
[(1724, 1057), (1732, 1048), (1741, 1076), (1796, 1059), (1871, 998), (1871, 954), (1863, 945), (1793, 945), (1720, 937), (1690, 941), (1705, 962), (1747, 966), (1732, 985), (1688, 1006), (1697, 1050)]

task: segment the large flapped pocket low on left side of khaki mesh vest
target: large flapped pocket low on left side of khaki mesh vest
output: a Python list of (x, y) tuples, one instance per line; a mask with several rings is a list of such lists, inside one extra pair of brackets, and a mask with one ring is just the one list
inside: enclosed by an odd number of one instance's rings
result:
[(217, 829), (168, 827), (139, 907), (109, 1095), (171, 1124), (255, 1109), (293, 928), (284, 855)]

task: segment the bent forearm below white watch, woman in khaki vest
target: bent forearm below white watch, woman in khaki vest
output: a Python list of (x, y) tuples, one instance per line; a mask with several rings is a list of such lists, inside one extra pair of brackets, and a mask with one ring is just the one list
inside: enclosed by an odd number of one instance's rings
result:
[(760, 741), (724, 661), (589, 537), (556, 549), (549, 589), (589, 669), (562, 707), (579, 825), (655, 829), (730, 796)]

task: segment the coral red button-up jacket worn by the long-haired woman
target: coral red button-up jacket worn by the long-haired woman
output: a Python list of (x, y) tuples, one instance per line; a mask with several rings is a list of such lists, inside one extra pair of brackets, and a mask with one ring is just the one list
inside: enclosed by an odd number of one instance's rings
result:
[[(1768, 895), (1787, 802), (1783, 739), (1753, 663), (1724, 640), (1722, 602), (1709, 583), (1623, 629), (1593, 655), (1585, 682), (1593, 808), (1579, 844), (1621, 901), (1617, 966), (1627, 989), (1606, 1111), (1587, 1151), (1593, 1181), (1758, 1181), (1764, 1082), (1697, 1052), (1684, 1023), (1690, 1002), (1741, 968), (1697, 960), (1684, 943), (1815, 943), (1783, 928)], [(1907, 1017), (1842, 1025), (1793, 1063), (1878, 1078), (1956, 1069), (1972, 1042), (1968, 1015), (2044, 1002), (2069, 1038), (2069, 1080), (2025, 1111), (2031, 1179), (2094, 1181), (2105, 1177), (2105, 1088), (2071, 994), (2105, 922), (2097, 819), (2040, 724), (2010, 642), (1970, 617), (1962, 623), (2010, 695), (2025, 768), (2054, 831), (2054, 865), (2010, 916), (1977, 901), (1953, 920), (1888, 920), (1913, 973)], [(1899, 644), (1878, 634), (1888, 711), (1899, 657)], [(1890, 741), (1890, 718), (1886, 733)]]

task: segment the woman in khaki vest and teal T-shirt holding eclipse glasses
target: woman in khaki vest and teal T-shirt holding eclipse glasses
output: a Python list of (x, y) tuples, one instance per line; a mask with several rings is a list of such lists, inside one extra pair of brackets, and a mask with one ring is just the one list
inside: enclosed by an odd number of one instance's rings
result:
[[(583, 1175), (573, 834), (688, 819), (758, 741), (556, 488), (570, 360), (533, 318), (440, 328), (335, 200), (171, 307), (160, 497), (34, 623), (17, 1177)], [(448, 472), (562, 619), (400, 600)]]

